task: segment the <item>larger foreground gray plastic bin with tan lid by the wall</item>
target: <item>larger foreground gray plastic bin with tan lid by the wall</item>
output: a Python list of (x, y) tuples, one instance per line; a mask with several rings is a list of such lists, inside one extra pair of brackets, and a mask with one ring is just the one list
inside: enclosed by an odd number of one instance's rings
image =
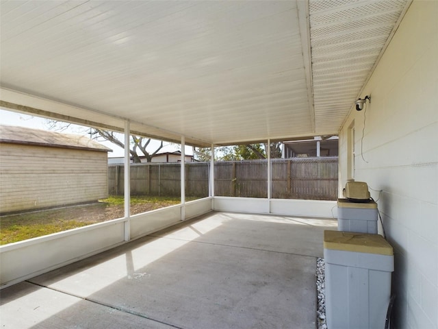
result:
[(383, 329), (394, 252), (379, 234), (324, 231), (329, 329)]

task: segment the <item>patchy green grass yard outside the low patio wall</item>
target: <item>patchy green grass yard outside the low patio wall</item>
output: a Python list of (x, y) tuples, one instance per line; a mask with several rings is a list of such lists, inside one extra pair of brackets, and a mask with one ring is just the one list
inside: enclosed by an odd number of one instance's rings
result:
[[(131, 215), (172, 206), (180, 201), (179, 197), (131, 197)], [(94, 204), (2, 216), (0, 245), (121, 218), (125, 213), (124, 204), (123, 197), (113, 196)]]

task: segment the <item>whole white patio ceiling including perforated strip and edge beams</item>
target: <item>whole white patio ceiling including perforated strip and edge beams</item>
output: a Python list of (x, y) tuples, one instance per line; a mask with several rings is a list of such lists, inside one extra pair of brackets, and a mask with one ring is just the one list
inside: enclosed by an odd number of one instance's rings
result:
[(410, 3), (1, 1), (0, 106), (196, 146), (337, 134)]

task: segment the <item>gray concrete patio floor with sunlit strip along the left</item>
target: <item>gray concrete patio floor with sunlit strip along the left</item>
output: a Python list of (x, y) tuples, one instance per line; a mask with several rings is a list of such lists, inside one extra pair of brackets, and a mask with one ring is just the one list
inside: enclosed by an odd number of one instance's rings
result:
[(211, 212), (1, 291), (1, 328), (316, 328), (335, 219)]

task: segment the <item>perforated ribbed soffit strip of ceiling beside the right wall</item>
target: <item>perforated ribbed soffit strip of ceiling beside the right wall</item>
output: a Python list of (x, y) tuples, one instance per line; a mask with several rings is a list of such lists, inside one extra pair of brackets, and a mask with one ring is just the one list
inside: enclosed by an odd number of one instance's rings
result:
[(410, 2), (309, 1), (316, 131), (342, 125)]

